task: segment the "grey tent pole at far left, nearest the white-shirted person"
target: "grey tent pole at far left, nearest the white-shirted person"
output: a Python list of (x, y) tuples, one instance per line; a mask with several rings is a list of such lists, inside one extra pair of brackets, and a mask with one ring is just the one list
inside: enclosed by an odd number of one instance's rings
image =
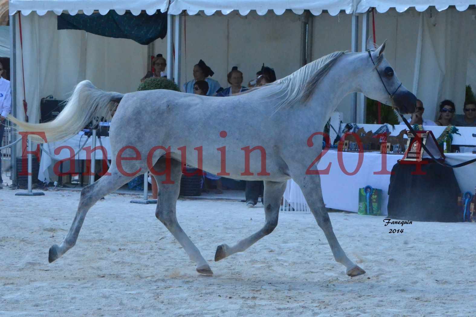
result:
[[(11, 86), (11, 114), (17, 116), (17, 14), (10, 16), (10, 86)], [(10, 125), (13, 128), (13, 124)], [(11, 142), (15, 142), (17, 139), (17, 133), (11, 129)], [(10, 149), (10, 164), (12, 172), (10, 173), (10, 179), (13, 184), (18, 183), (17, 177), (17, 144), (13, 145)]]

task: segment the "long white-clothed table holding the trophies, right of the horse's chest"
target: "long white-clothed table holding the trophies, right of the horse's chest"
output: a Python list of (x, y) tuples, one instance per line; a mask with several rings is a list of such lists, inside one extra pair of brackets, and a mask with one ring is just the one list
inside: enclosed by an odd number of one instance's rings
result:
[[(357, 167), (359, 153), (341, 152), (341, 163), (347, 173), (353, 173)], [(340, 155), (339, 154), (339, 155)], [(320, 175), (322, 195), (327, 208), (333, 208), (344, 211), (357, 212), (358, 209), (358, 189), (367, 185), (382, 190), (382, 214), (387, 215), (388, 203), (388, 185), (390, 183), (390, 171), (397, 163), (397, 160), (403, 157), (403, 154), (387, 154), (388, 173), (375, 174), (382, 170), (382, 154), (379, 152), (364, 152), (362, 155), (362, 166), (354, 175), (347, 175), (341, 170), (338, 161), (337, 150), (329, 150), (324, 154), (317, 169), (324, 170), (331, 163), (327, 175)], [(455, 165), (476, 158), (472, 153), (447, 153), (446, 163)], [(454, 173), (458, 181), (461, 192), (474, 192), (476, 181), (476, 163), (463, 167), (455, 168)], [(312, 177), (312, 175), (310, 175)], [(304, 196), (297, 184), (290, 180), (285, 192), (285, 199), (291, 202), (303, 202)]]

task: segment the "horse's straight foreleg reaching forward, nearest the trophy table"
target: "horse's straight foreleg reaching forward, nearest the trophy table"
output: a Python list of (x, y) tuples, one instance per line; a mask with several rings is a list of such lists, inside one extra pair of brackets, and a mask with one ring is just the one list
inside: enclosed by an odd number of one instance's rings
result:
[[(297, 175), (297, 176), (296, 176)], [(346, 274), (350, 277), (364, 274), (365, 271), (347, 258), (346, 252), (342, 250), (336, 235), (332, 230), (329, 215), (326, 211), (324, 199), (322, 198), (321, 180), (319, 175), (306, 175), (306, 173), (293, 173), (293, 180), (299, 185), (306, 198), (309, 208), (316, 218), (317, 224), (324, 231), (330, 249), (337, 262), (346, 267)]]

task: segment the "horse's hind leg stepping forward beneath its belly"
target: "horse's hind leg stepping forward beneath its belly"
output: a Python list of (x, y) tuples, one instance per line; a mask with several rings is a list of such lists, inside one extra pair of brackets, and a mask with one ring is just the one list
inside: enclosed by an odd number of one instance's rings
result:
[[(203, 258), (198, 248), (188, 238), (188, 235), (183, 231), (177, 221), (176, 206), (178, 194), (180, 192), (180, 178), (182, 176), (182, 163), (171, 159), (170, 178), (173, 184), (163, 184), (165, 175), (154, 175), (155, 180), (159, 186), (159, 197), (157, 200), (157, 209), (155, 216), (169, 229), (178, 243), (187, 252), (188, 257), (197, 263), (197, 272), (204, 275), (213, 275), (210, 266)], [(166, 159), (160, 158), (154, 165), (154, 170), (158, 173), (165, 171)]]

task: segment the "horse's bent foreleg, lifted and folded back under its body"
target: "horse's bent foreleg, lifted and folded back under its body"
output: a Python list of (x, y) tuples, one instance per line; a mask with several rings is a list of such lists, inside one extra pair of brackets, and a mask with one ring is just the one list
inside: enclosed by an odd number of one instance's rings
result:
[(226, 257), (243, 252), (253, 245), (256, 241), (270, 234), (278, 225), (279, 207), (281, 198), (286, 190), (286, 182), (265, 181), (264, 203), (266, 222), (263, 228), (250, 235), (248, 238), (240, 240), (237, 244), (230, 247), (227, 244), (219, 245), (215, 253), (215, 261), (225, 259)]

